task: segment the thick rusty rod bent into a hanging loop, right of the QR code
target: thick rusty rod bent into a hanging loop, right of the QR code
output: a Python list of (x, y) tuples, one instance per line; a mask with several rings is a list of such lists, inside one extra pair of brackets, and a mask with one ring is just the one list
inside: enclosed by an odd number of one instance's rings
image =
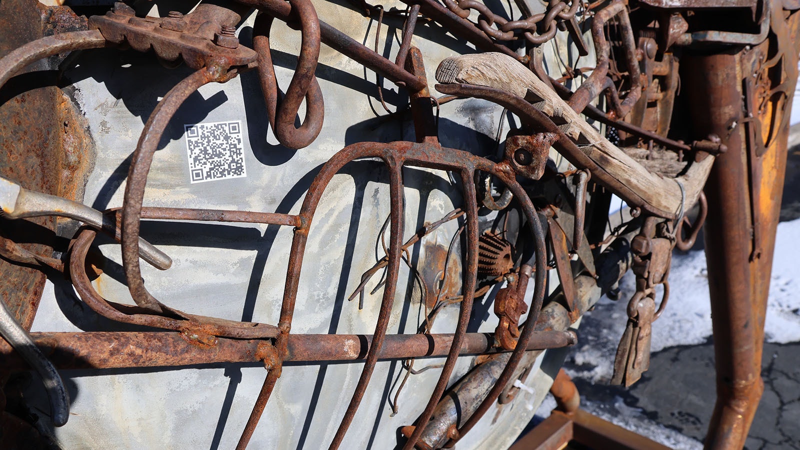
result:
[[(317, 11), (310, 0), (294, 0), (292, 10), (300, 22), (302, 44), (298, 66), (286, 95), (278, 101), (278, 79), (270, 54), (270, 29), (274, 18), (259, 14), (253, 26), (253, 48), (258, 53), (258, 78), (264, 93), (270, 126), (284, 146), (298, 149), (307, 147), (317, 139), (325, 118), (325, 102), (314, 70), (317, 68), (320, 48), (320, 26)], [(306, 118), (300, 127), (294, 127), (294, 117), (306, 99)]]

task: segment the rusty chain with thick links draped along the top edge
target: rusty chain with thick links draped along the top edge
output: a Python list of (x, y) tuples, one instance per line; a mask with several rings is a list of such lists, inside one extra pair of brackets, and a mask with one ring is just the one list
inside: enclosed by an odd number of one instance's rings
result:
[(581, 0), (550, 0), (544, 13), (534, 14), (520, 20), (506, 20), (494, 14), (479, 0), (442, 0), (448, 10), (460, 18), (469, 18), (470, 10), (478, 11), (478, 28), (490, 38), (498, 41), (516, 41), (525, 38), (539, 45), (549, 41), (558, 30), (558, 23), (571, 21), (578, 13)]

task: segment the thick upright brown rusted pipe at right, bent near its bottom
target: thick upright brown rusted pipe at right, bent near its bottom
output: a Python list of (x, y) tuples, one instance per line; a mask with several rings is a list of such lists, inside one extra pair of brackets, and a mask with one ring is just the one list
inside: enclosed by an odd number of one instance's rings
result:
[[(751, 297), (750, 190), (743, 154), (740, 53), (690, 56), (682, 70), (693, 75), (684, 82), (696, 98), (692, 119), (698, 132), (719, 133), (729, 151), (714, 163), (706, 196), (706, 259), (714, 327), (717, 403), (709, 425), (706, 448), (741, 448), (763, 391), (761, 341), (754, 309), (766, 297)], [(684, 66), (685, 65), (685, 66)], [(782, 171), (781, 171), (782, 173)], [(779, 202), (778, 202), (779, 203)], [(771, 258), (769, 258), (771, 259)], [(768, 273), (768, 272), (767, 272)], [(766, 274), (761, 274), (769, 279)]]

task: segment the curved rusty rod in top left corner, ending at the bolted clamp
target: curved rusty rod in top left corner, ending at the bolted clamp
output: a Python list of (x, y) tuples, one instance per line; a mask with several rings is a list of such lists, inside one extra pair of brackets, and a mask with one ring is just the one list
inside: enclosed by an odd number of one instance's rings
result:
[(103, 46), (106, 46), (106, 38), (98, 30), (54, 34), (28, 42), (0, 59), (0, 87), (31, 62), (65, 51)]

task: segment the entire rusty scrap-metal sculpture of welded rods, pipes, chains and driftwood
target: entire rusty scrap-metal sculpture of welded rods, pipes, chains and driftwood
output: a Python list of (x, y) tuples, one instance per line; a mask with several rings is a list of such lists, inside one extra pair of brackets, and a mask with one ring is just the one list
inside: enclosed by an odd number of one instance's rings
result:
[[(629, 327), (622, 336), (614, 379), (624, 384), (637, 380), (648, 365), (650, 323), (669, 295), (671, 251), (676, 245), (690, 247), (707, 217), (714, 334), (719, 339), (715, 340), (718, 404), (706, 446), (741, 448), (762, 391), (760, 352), (769, 287), (764, 280), (769, 279), (765, 274), (771, 267), (785, 167), (787, 108), (797, 79), (798, 6), (772, 0), (571, 0), (547, 2), (544, 12), (534, 14), (528, 2), (518, 2), (522, 18), (511, 20), (474, 0), (444, 0), (443, 5), (435, 0), (403, 2), (407, 8), (397, 13), (403, 24), (394, 61), (320, 20), (310, 0), (202, 2), (191, 12), (172, 11), (163, 18), (143, 16), (121, 2), (88, 20), (63, 6), (48, 10), (50, 17), (66, 14), (71, 27), (11, 45), (13, 50), (0, 59), (0, 86), (11, 84), (14, 75), (43, 58), (101, 47), (152, 50), (164, 65), (183, 63), (194, 71), (164, 94), (150, 113), (130, 157), (119, 208), (96, 211), (70, 201), (78, 197), (64, 187), (26, 179), (31, 163), (19, 162), (25, 151), (7, 144), (14, 139), (26, 144), (26, 138), (18, 130), (3, 130), (8, 149), (3, 147), (6, 155), (0, 157), (4, 213), (0, 271), (5, 277), (0, 380), (5, 382), (9, 374), (30, 365), (45, 381), (52, 422), (63, 425), (69, 417), (69, 399), (55, 369), (262, 363), (266, 378), (238, 440), (238, 448), (246, 448), (276, 384), (290, 382), (281, 378), (286, 363), (364, 360), (349, 404), (327, 443), (339, 448), (378, 360), (406, 361), (399, 395), (415, 359), (446, 356), (432, 392), (426, 392), (425, 408), (416, 412), (414, 424), (402, 428), (405, 438), (398, 446), (450, 447), (494, 404), (514, 399), (514, 380), (524, 380), (542, 350), (575, 344), (577, 336), (570, 325), (629, 268), (638, 276), (637, 294), (630, 299)], [(16, 12), (27, 14), (30, 3), (20, 2)], [(383, 6), (354, 3), (363, 14), (377, 15), (378, 24), (382, 22)], [(7, 2), (2, 8), (14, 12)], [(253, 48), (234, 33), (251, 8), (258, 10)], [(734, 29), (714, 29), (718, 22), (710, 20), (714, 14), (710, 11), (717, 10), (730, 16)], [(275, 19), (300, 30), (302, 36), (285, 94), (278, 86), (270, 43)], [(421, 20), (438, 23), (460, 42), (487, 52), (442, 61), (436, 88), (446, 98), (432, 96), (425, 55), (412, 42)], [(578, 54), (585, 56), (590, 50), (584, 37), (587, 28), (595, 66), (568, 68), (563, 78), (550, 78), (543, 66), (542, 44), (562, 30)], [(416, 142), (357, 142), (344, 147), (314, 175), (302, 207), (294, 214), (143, 206), (150, 167), (170, 120), (187, 98), (209, 83), (229, 82), (255, 70), (278, 142), (290, 149), (314, 145), (325, 127), (324, 90), (318, 80), (322, 43), (407, 91)], [(589, 71), (586, 77), (583, 72)], [(574, 91), (564, 84), (582, 77)], [(678, 85), (691, 96), (689, 103), (683, 97), (678, 104)], [(476, 155), (472, 148), (439, 143), (439, 107), (455, 98), (486, 99), (518, 118), (520, 125), (504, 139), (502, 158), (493, 160)], [(299, 120), (304, 100), (305, 118)], [(595, 106), (598, 100), (605, 106)], [(684, 124), (675, 123), (675, 110), (691, 115), (694, 125), (678, 129)], [(606, 129), (601, 133), (586, 118)], [(68, 126), (66, 120), (63, 123)], [(58, 146), (43, 146), (41, 139), (34, 144), (42, 150), (27, 158), (48, 161), (52, 152), (61, 151)], [(570, 168), (556, 167), (550, 159), (556, 154)], [(292, 332), (306, 243), (310, 227), (320, 220), (322, 195), (334, 175), (364, 159), (381, 162), (390, 190), (390, 213), (380, 232), (384, 239), (388, 227), (385, 256), (362, 275), (350, 295), (350, 299), (361, 295), (359, 308), (364, 307), (366, 284), (378, 271), (385, 271), (378, 284), (383, 294), (374, 331), (371, 335)], [(462, 205), (437, 222), (426, 223), (404, 242), (403, 170), (409, 167), (452, 174)], [(75, 183), (79, 181), (70, 179), (65, 184)], [(494, 198), (496, 189), (499, 199)], [(611, 194), (626, 201), (633, 219), (606, 232), (604, 202)], [(25, 196), (32, 206), (23, 201)], [(701, 204), (702, 214), (690, 224), (685, 213), (695, 202)], [(480, 229), (482, 205), (505, 217), (502, 230)], [(520, 223), (516, 231), (508, 227), (511, 211)], [(70, 217), (84, 226), (66, 244), (39, 242), (31, 247), (11, 225), (12, 219), (50, 218), (41, 219), (38, 227), (42, 233), (52, 232), (52, 216)], [(156, 247), (158, 243), (142, 239), (142, 219), (292, 227), (278, 322), (196, 315), (156, 299), (146, 288), (139, 259), (162, 270), (170, 267), (171, 260)], [(461, 295), (443, 289), (450, 276), (448, 249), (436, 274), (438, 293), (422, 295), (424, 326), (417, 334), (390, 333), (402, 263), (416, 270), (407, 256), (409, 249), (450, 222), (462, 223), (451, 242), (451, 247), (462, 243), (464, 249)], [(684, 227), (689, 227), (687, 238), (682, 235)], [(102, 257), (95, 250), (98, 231), (121, 243), (122, 270), (133, 305), (106, 299), (92, 283)], [(551, 268), (557, 270), (561, 287), (546, 295), (546, 273)], [(42, 295), (42, 273), (68, 280), (98, 317), (130, 324), (136, 331), (30, 332)], [(422, 275), (414, 277), (425, 291)], [(502, 282), (506, 287), (500, 287)], [(657, 307), (658, 284), (664, 286), (664, 295)], [(498, 317), (494, 335), (468, 332), (475, 300), (494, 286), (500, 287), (494, 294)], [(454, 329), (434, 333), (438, 312), (451, 304), (458, 304)], [(480, 355), (482, 360), (472, 361), (472, 370), (466, 375), (458, 372), (458, 380), (453, 380), (463, 355)], [(3, 416), (2, 427), (33, 429), (9, 413)], [(7, 445), (13, 448), (18, 442)]]

